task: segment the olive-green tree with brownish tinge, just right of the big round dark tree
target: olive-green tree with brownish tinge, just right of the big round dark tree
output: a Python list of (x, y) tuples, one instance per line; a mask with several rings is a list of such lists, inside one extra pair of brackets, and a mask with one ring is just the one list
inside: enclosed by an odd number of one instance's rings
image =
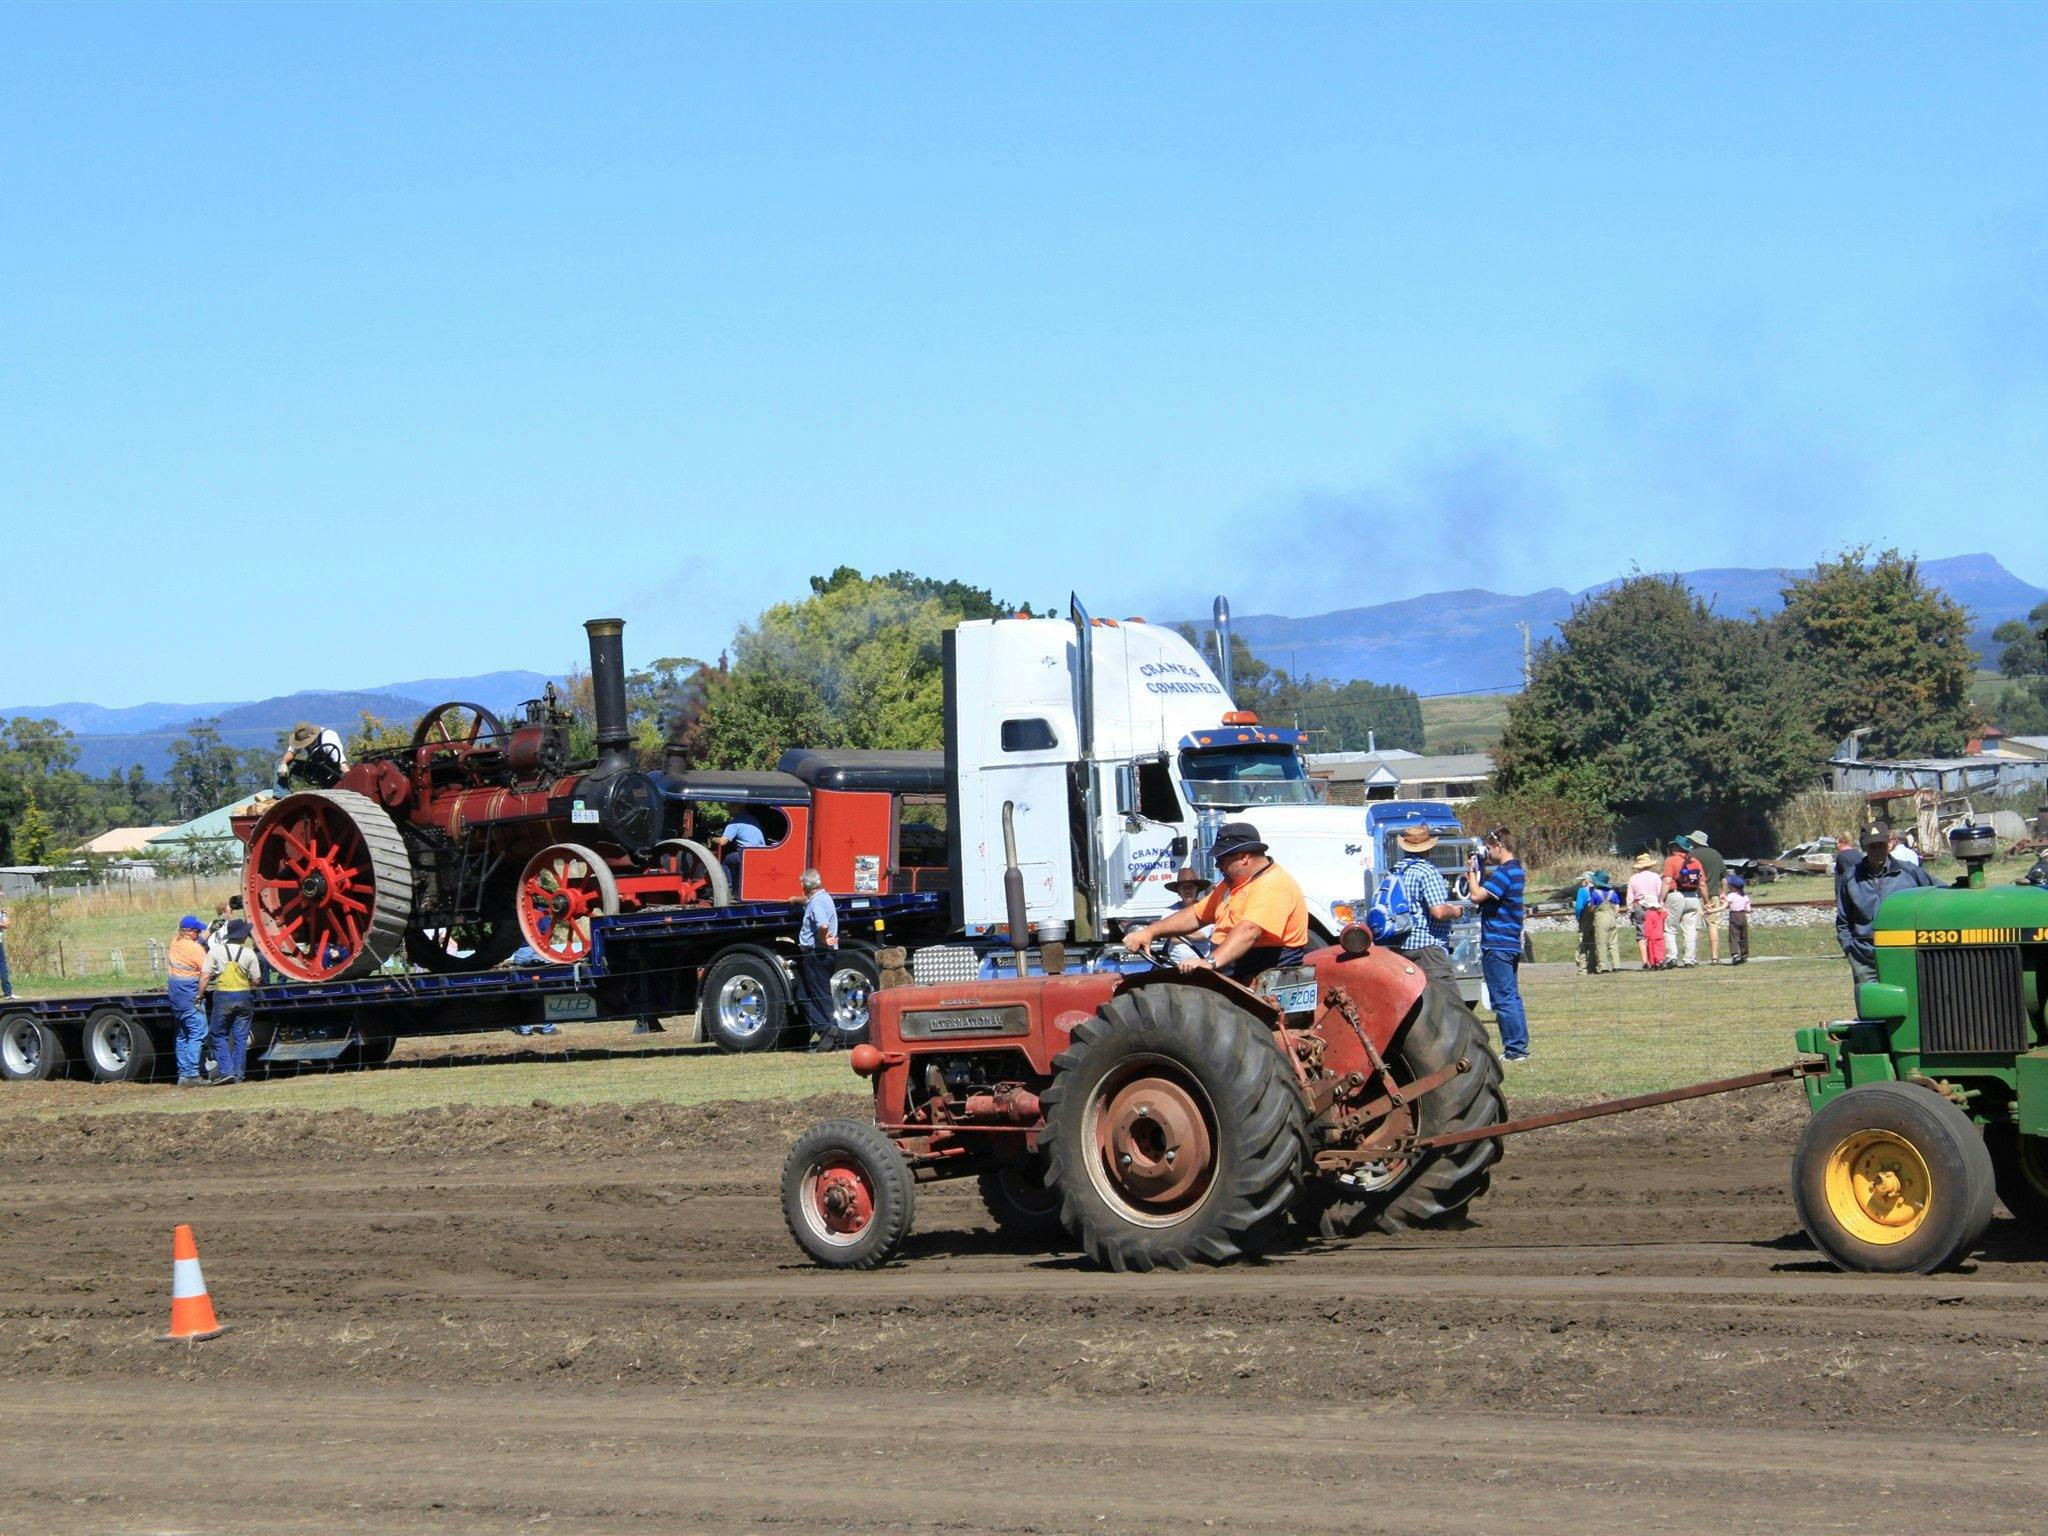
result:
[(1976, 727), (1970, 610), (1919, 561), (1849, 549), (1784, 590), (1774, 629), (1829, 743), (1866, 731), (1874, 758), (1962, 752)]

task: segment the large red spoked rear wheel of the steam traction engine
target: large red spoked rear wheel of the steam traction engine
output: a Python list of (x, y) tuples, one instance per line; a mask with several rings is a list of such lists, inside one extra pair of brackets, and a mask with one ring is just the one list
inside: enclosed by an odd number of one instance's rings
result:
[(369, 975), (406, 942), (412, 858), (367, 795), (287, 795), (250, 831), (244, 901), (256, 948), (293, 981)]

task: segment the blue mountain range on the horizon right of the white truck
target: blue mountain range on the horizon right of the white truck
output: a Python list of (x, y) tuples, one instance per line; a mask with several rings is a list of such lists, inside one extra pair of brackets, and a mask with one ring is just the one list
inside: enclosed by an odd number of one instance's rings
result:
[[(1778, 612), (1780, 590), (1804, 571), (1704, 569), (1679, 571), (1714, 612), (1745, 616)], [(1995, 655), (1991, 631), (2007, 618), (2025, 618), (2048, 590), (2021, 582), (1991, 555), (1956, 555), (1921, 561), (1921, 575), (1964, 604), (1974, 627), (1970, 643)], [(1571, 616), (1575, 602), (1620, 586), (1602, 582), (1583, 592), (1548, 588), (1528, 596), (1464, 590), (1339, 608), (1309, 618), (1241, 614), (1233, 618), (1253, 655), (1288, 672), (1348, 682), (1401, 682), (1419, 694), (1507, 692), (1522, 686), (1522, 631), (1540, 645)], [(1206, 629), (1206, 621), (1198, 629)]]

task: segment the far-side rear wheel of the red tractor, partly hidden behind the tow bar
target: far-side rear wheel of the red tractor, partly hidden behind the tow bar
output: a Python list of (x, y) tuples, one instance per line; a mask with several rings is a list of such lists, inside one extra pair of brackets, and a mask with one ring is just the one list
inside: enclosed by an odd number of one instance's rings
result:
[[(1501, 1124), (1507, 1118), (1501, 1063), (1485, 1028), (1456, 987), (1432, 981), (1415, 999), (1415, 1014), (1395, 1036), (1386, 1063), (1403, 1083), (1413, 1083), (1460, 1059), (1473, 1063), (1473, 1069), (1417, 1100), (1415, 1112), (1425, 1137)], [(1468, 1141), (1380, 1174), (1364, 1169), (1352, 1184), (1321, 1178), (1303, 1204), (1303, 1217), (1313, 1217), (1313, 1227), (1323, 1237), (1421, 1227), (1454, 1217), (1485, 1194), (1499, 1159), (1499, 1141)]]

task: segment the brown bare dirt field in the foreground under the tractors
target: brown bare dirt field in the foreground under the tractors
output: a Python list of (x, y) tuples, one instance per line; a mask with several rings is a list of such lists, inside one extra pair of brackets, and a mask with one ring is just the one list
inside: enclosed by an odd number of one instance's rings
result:
[[(797, 1262), (852, 1098), (0, 1128), (4, 1532), (2038, 1530), (2048, 1262), (1839, 1276), (1796, 1092), (1511, 1145), (1464, 1231), (1108, 1276), (928, 1188)], [(233, 1331), (158, 1346), (190, 1221)]]

